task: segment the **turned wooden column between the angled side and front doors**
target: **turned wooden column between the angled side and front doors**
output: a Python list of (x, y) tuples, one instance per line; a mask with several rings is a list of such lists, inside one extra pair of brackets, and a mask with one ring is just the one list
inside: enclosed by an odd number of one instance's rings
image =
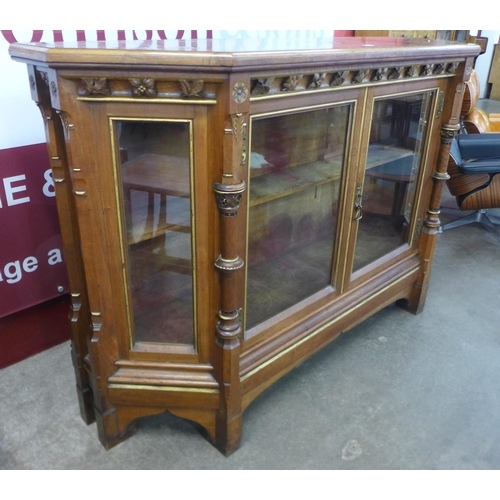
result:
[(245, 217), (238, 211), (246, 190), (249, 80), (230, 77), (225, 88), (228, 114), (224, 119), (222, 179), (213, 185), (220, 214), (220, 254), (215, 267), (220, 275), (220, 310), (216, 332), (214, 373), (219, 381), (216, 446), (229, 455), (240, 445), (242, 394), (240, 354), (243, 328), (242, 287), (244, 261), (238, 247), (244, 244)]

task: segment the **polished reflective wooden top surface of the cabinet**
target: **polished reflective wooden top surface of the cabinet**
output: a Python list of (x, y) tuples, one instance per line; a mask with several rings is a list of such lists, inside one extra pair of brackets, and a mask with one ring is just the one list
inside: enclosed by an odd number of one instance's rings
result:
[(389, 37), (328, 39), (209, 39), (14, 43), (10, 55), (49, 66), (161, 65), (252, 67), (327, 62), (395, 61), (476, 56), (479, 46)]

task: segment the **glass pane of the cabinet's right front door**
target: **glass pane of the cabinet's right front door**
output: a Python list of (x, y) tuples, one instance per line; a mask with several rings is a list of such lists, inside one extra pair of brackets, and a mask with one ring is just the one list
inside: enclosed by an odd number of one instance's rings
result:
[(374, 104), (353, 271), (409, 242), (431, 96)]

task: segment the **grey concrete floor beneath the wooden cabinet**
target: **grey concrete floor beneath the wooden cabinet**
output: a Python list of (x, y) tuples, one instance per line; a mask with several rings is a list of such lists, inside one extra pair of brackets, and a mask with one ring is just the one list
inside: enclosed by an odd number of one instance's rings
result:
[(499, 382), (500, 240), (471, 224), (439, 235), (420, 315), (390, 306), (283, 377), (230, 457), (169, 413), (105, 451), (64, 343), (0, 371), (0, 469), (496, 470)]

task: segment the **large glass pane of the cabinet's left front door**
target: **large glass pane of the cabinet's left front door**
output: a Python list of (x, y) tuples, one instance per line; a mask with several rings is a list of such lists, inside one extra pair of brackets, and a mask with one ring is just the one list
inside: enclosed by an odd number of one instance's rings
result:
[(350, 109), (252, 120), (247, 329), (332, 282)]

